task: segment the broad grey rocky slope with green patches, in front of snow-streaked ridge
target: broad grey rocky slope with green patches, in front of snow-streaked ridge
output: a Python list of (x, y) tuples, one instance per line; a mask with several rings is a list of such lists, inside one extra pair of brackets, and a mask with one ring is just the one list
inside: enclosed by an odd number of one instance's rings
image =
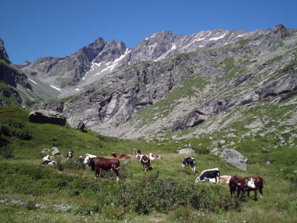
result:
[[(219, 34), (211, 38), (228, 37)], [(119, 69), (66, 102), (63, 113), (104, 135), (162, 139), (219, 130), (240, 117), (228, 114), (256, 103), (296, 103), (296, 30), (276, 26), (253, 35)]]

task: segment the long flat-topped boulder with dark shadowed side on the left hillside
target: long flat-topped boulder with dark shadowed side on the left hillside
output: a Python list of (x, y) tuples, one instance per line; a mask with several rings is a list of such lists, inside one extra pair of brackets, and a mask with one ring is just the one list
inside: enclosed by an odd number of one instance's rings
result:
[(38, 124), (58, 124), (64, 126), (66, 124), (66, 117), (50, 110), (33, 110), (29, 113), (29, 122)]

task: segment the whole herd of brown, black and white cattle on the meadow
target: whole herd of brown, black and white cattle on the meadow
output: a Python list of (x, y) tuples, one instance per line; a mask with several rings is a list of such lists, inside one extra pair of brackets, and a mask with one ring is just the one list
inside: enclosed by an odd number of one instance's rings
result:
[[(162, 156), (149, 153), (149, 155), (142, 155), (140, 149), (135, 149), (133, 151), (135, 153), (135, 158), (140, 160), (142, 164), (142, 170), (148, 171), (152, 170), (153, 166), (151, 166), (151, 161), (154, 159), (163, 159)], [(124, 153), (111, 153), (113, 159), (104, 158), (104, 157), (97, 157), (95, 155), (91, 155), (86, 153), (86, 157), (79, 156), (79, 161), (83, 162), (84, 164), (90, 166), (92, 170), (95, 172), (95, 179), (99, 177), (100, 168), (104, 171), (114, 171), (115, 175), (117, 176), (117, 181), (119, 180), (119, 159), (130, 159), (131, 155), (127, 155)], [(73, 151), (70, 151), (66, 155), (66, 161), (73, 158)], [(55, 165), (55, 161), (52, 161), (52, 157), (50, 155), (46, 155), (43, 158), (41, 164), (46, 165)], [(184, 168), (188, 168), (191, 166), (191, 171), (195, 173), (196, 168), (196, 159), (193, 157), (185, 157), (184, 161), (182, 162), (181, 166)], [(195, 180), (196, 183), (198, 182), (211, 182), (213, 184), (222, 184), (226, 183), (229, 184), (230, 194), (233, 195), (237, 193), (239, 196), (240, 193), (244, 194), (247, 192), (247, 197), (249, 197), (249, 192), (253, 191), (255, 195), (255, 200), (257, 199), (257, 191), (260, 192), (260, 197), (262, 198), (262, 188), (264, 188), (265, 181), (262, 177), (240, 177), (238, 175), (220, 175), (220, 170), (218, 168), (212, 168), (208, 170), (202, 171)], [(265, 183), (266, 184), (266, 183)]]

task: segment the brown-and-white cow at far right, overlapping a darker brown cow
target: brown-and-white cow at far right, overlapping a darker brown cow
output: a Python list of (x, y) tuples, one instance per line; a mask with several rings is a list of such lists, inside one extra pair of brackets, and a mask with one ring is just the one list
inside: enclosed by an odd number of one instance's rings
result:
[(266, 182), (262, 179), (262, 177), (245, 177), (240, 180), (240, 190), (238, 190), (238, 195), (241, 193), (245, 193), (247, 191), (247, 197), (249, 197), (249, 191), (253, 191), (255, 194), (254, 199), (257, 200), (257, 191), (260, 191), (260, 197), (262, 198), (262, 189)]

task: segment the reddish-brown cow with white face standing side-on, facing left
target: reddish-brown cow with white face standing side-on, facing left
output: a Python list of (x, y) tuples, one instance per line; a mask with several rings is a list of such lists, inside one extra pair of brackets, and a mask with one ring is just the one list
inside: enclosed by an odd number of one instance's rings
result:
[(104, 171), (114, 171), (117, 175), (117, 181), (119, 180), (119, 159), (107, 159), (103, 157), (93, 157), (90, 158), (86, 156), (84, 159), (84, 164), (88, 164), (92, 168), (92, 171), (95, 171), (95, 179), (99, 177), (100, 168)]

